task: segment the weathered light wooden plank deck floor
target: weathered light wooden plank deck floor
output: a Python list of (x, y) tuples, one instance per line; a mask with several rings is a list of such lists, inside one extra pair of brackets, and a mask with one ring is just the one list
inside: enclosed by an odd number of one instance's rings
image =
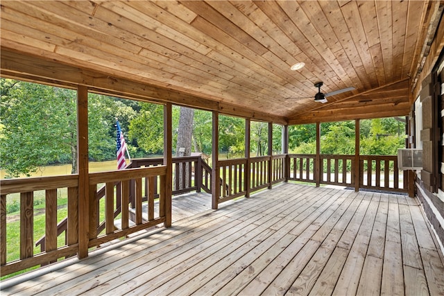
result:
[(2, 295), (443, 295), (415, 199), (282, 184)]

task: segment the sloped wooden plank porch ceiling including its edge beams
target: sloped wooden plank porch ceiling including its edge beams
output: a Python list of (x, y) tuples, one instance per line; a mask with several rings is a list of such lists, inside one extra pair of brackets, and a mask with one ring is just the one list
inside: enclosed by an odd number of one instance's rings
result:
[[(32, 72), (29, 77), (66, 82), (68, 68), (32, 69), (38, 63), (62, 64), (81, 70), (83, 77), (70, 82), (100, 89), (112, 89), (111, 84), (119, 94), (119, 82), (125, 81), (149, 90), (135, 91), (139, 99), (229, 114), (248, 110), (252, 118), (280, 123), (402, 116), (409, 114), (411, 89), (431, 24), (436, 28), (441, 18), (440, 5), (2, 0), (1, 70), (3, 77), (26, 78)], [(17, 61), (22, 56), (26, 59)], [(305, 67), (291, 71), (296, 62)], [(24, 66), (15, 69), (20, 63)], [(106, 75), (108, 87), (91, 78), (98, 73)], [(316, 103), (318, 81), (324, 93), (355, 90)]]

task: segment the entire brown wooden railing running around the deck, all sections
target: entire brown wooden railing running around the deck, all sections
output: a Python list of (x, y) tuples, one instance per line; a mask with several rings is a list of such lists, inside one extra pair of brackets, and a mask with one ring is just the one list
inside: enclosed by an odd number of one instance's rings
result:
[[(253, 191), (271, 188), (284, 180), (355, 186), (357, 171), (351, 155), (273, 155), (250, 159), (219, 161), (220, 195), (218, 202)], [(318, 166), (318, 167), (317, 167)], [(316, 170), (317, 168), (317, 170)], [(211, 193), (212, 169), (200, 157), (173, 159), (173, 174), (182, 171), (184, 180), (173, 181), (173, 194), (188, 191)], [(319, 174), (315, 172), (319, 171)], [(134, 159), (124, 171), (89, 174), (89, 247), (96, 247), (142, 229), (164, 223), (167, 167), (162, 159)], [(359, 187), (407, 192), (407, 173), (399, 173), (395, 156), (360, 156)], [(403, 179), (402, 179), (403, 177)], [(404, 180), (406, 180), (404, 182)], [(57, 194), (67, 194), (67, 215), (58, 217)], [(46, 219), (40, 252), (34, 249), (33, 200), (44, 191)], [(78, 252), (78, 175), (1, 180), (0, 243), (1, 275), (44, 265)], [(19, 195), (20, 258), (8, 260), (9, 196)], [(39, 193), (42, 194), (42, 193)], [(154, 211), (159, 198), (160, 209)], [(59, 221), (59, 222), (58, 222)]]

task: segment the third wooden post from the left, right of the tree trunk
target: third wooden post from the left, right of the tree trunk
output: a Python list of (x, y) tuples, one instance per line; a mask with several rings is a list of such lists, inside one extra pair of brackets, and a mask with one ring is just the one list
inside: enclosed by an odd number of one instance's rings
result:
[(211, 193), (212, 193), (212, 209), (217, 209), (220, 195), (220, 169), (219, 169), (219, 112), (213, 111), (213, 132), (212, 132), (212, 178), (211, 178)]

